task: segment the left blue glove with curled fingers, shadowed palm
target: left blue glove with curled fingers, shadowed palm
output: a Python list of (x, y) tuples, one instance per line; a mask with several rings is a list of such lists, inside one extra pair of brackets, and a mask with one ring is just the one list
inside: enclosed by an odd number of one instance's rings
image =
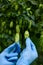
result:
[(0, 65), (15, 65), (20, 53), (19, 42), (10, 45), (0, 54)]

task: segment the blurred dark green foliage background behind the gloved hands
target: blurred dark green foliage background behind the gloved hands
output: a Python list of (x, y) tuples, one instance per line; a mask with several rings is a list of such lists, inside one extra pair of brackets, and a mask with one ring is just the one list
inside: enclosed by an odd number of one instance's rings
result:
[(15, 41), (17, 24), (22, 49), (25, 30), (36, 45), (39, 57), (31, 65), (43, 65), (43, 0), (0, 0), (0, 52)]

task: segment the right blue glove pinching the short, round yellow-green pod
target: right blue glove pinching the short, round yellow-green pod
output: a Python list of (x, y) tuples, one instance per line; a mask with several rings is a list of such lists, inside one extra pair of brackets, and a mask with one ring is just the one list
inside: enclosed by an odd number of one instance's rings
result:
[(30, 65), (37, 57), (38, 53), (35, 45), (30, 38), (27, 38), (26, 48), (21, 52), (20, 58), (18, 59), (16, 65)]

